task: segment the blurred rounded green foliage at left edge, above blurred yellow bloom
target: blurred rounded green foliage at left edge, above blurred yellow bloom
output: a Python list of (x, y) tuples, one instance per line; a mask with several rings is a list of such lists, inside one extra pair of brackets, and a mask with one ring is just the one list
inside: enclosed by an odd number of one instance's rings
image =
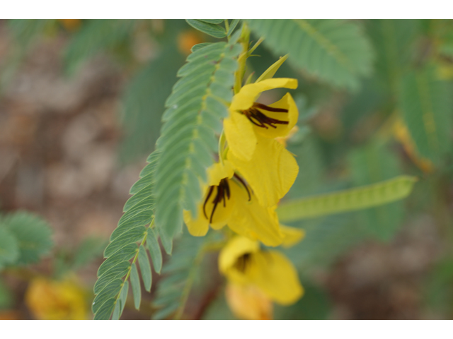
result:
[(0, 269), (37, 263), (52, 246), (52, 230), (37, 215), (19, 211), (0, 218)]

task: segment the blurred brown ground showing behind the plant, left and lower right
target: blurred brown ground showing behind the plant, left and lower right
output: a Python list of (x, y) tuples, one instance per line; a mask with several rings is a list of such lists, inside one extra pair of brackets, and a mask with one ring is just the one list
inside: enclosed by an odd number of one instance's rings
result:
[[(8, 44), (0, 25), (0, 60)], [(74, 248), (91, 234), (108, 239), (144, 160), (117, 165), (122, 138), (117, 117), (125, 75), (98, 57), (74, 78), (64, 77), (64, 44), (64, 37), (42, 40), (1, 93), (0, 206), (4, 212), (26, 209), (42, 215), (53, 227), (57, 247)], [(334, 303), (331, 317), (436, 317), (423, 309), (420, 297), (423, 276), (438, 256), (434, 230), (427, 217), (407, 225), (389, 245), (362, 244), (340, 258), (319, 277)], [(96, 281), (100, 263), (81, 271), (87, 288)], [(20, 299), (26, 283), (15, 288)], [(144, 293), (144, 298), (149, 295)], [(23, 302), (17, 302), (26, 316)], [(147, 303), (142, 304), (142, 311), (149, 311)], [(197, 314), (200, 307), (189, 304), (188, 310)], [(125, 317), (147, 315), (126, 312)]]

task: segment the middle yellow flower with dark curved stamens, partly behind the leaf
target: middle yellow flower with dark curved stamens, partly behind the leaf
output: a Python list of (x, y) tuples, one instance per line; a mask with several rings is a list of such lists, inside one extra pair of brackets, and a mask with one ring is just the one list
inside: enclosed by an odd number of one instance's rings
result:
[(228, 160), (224, 165), (212, 165), (207, 174), (209, 182), (202, 187), (205, 194), (198, 205), (196, 218), (188, 210), (183, 213), (190, 234), (200, 237), (207, 233), (210, 225), (214, 230), (228, 225), (237, 234), (260, 240), (267, 246), (282, 243), (284, 234), (280, 231), (276, 206), (261, 206)]

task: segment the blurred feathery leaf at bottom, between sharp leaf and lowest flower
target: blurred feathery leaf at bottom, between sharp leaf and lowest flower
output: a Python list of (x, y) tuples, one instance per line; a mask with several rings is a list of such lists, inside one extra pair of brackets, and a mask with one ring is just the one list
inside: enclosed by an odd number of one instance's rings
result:
[(162, 270), (165, 276), (157, 286), (153, 305), (158, 310), (154, 319), (181, 319), (209, 239), (210, 234), (192, 237), (185, 232), (177, 242), (173, 255)]

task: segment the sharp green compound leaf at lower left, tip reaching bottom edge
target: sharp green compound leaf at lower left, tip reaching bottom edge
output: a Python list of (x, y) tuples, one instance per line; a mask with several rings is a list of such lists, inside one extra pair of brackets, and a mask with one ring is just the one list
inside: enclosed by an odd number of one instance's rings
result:
[[(125, 214), (120, 218), (117, 228), (110, 236), (110, 244), (104, 251), (106, 260), (98, 269), (98, 280), (94, 285), (96, 295), (92, 305), (94, 319), (110, 319), (110, 316), (112, 319), (119, 319), (125, 306), (129, 285), (132, 285), (135, 307), (139, 308), (141, 289), (137, 263), (142, 272), (145, 289), (151, 290), (151, 264), (148, 251), (154, 263), (154, 270), (160, 273), (161, 249), (158, 235), (151, 222), (157, 159), (156, 152), (148, 157), (149, 164), (144, 167), (140, 179), (130, 189), (133, 196), (125, 203), (123, 209)], [(165, 245), (166, 249), (171, 251), (171, 244)]]

